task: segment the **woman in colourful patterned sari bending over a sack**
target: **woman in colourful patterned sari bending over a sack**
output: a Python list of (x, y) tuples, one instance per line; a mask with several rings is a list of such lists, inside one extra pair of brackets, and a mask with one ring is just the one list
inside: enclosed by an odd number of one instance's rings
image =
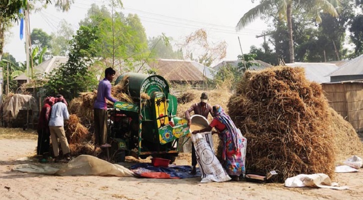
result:
[(231, 118), (224, 112), (220, 105), (213, 106), (213, 120), (208, 127), (195, 130), (192, 133), (211, 131), (215, 127), (223, 141), (222, 165), (233, 180), (239, 180), (239, 176), (245, 173), (245, 144), (240, 130), (234, 125)]

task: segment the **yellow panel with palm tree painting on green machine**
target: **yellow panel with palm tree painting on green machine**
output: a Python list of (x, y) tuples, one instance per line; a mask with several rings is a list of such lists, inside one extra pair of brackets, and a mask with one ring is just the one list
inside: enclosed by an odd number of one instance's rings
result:
[(168, 103), (166, 101), (164, 93), (162, 92), (156, 94), (155, 96), (155, 109), (158, 128), (164, 127), (165, 125), (169, 124)]

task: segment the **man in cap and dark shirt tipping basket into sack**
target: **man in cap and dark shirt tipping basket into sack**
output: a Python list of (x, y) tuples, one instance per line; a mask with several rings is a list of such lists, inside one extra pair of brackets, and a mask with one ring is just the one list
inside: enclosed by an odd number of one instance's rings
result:
[[(192, 104), (189, 109), (185, 111), (185, 117), (188, 120), (188, 126), (192, 124), (192, 120), (190, 119), (190, 112), (194, 111), (194, 114), (199, 114), (204, 116), (205, 118), (208, 118), (208, 114), (210, 113), (212, 115), (212, 106), (208, 103), (208, 93), (203, 92), (200, 96), (200, 102)], [(194, 144), (192, 143), (192, 165), (193, 170), (191, 171), (191, 174), (196, 173), (195, 166), (197, 165), (197, 156), (195, 155), (195, 148)]]

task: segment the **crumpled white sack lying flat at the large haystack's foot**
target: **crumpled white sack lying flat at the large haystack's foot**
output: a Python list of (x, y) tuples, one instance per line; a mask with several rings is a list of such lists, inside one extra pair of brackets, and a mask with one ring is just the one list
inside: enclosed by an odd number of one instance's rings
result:
[(285, 180), (286, 187), (320, 187), (330, 189), (349, 189), (348, 186), (338, 186), (331, 182), (330, 177), (325, 173), (299, 174)]

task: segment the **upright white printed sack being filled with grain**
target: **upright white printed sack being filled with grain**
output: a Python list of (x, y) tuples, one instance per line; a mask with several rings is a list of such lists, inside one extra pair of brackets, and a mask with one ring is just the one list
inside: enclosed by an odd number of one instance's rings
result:
[(212, 140), (211, 132), (192, 134), (197, 161), (200, 172), (202, 173), (201, 182), (224, 182), (231, 179), (227, 172), (222, 167), (217, 157), (211, 148), (210, 141)]

